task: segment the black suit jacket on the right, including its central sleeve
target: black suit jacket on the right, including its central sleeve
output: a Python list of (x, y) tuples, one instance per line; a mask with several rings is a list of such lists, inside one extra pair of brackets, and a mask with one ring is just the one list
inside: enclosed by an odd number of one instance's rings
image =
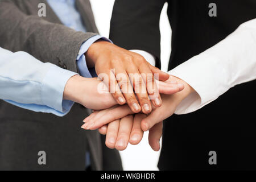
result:
[[(110, 39), (123, 48), (152, 53), (160, 66), (159, 18), (165, 2), (172, 28), (169, 70), (256, 18), (255, 0), (117, 0)], [(208, 15), (212, 2), (217, 17)], [(255, 93), (256, 81), (246, 82), (200, 110), (167, 119), (159, 168), (256, 169)], [(209, 165), (209, 151), (217, 152), (217, 165)]]

